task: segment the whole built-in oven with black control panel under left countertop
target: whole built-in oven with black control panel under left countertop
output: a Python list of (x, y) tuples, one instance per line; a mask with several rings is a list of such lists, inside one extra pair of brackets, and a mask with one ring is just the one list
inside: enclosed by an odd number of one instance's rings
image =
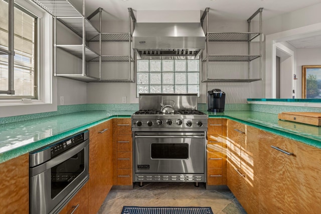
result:
[(58, 213), (88, 181), (89, 131), (30, 152), (30, 213)]

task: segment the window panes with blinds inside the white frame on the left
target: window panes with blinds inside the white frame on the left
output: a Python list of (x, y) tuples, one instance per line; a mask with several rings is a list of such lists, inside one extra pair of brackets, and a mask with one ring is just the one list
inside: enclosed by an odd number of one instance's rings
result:
[[(38, 98), (37, 17), (15, 5), (14, 90), (0, 99)], [(0, 0), (0, 47), (8, 50), (8, 3)], [(8, 55), (0, 55), (0, 90), (8, 90)]]

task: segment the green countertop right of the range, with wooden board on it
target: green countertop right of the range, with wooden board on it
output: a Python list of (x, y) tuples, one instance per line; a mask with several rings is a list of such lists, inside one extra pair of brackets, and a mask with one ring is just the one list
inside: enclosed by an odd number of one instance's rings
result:
[(305, 144), (321, 148), (321, 127), (290, 121), (282, 121), (277, 114), (255, 111), (225, 111), (224, 113), (208, 113), (209, 118), (223, 117), (232, 119), (256, 128), (287, 137)]

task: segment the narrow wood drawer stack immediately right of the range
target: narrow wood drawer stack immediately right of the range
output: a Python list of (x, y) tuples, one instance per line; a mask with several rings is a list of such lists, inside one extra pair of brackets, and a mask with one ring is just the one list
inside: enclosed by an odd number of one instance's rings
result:
[(208, 120), (207, 139), (207, 185), (226, 185), (226, 119)]

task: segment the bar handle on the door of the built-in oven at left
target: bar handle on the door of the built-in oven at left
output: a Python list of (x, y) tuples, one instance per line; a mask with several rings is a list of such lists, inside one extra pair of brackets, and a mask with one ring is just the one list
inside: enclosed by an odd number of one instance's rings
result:
[(78, 154), (81, 150), (84, 148), (88, 150), (89, 145), (89, 139), (85, 140), (84, 142), (68, 149), (67, 151), (61, 153), (60, 155), (54, 157), (53, 159), (50, 159), (49, 161), (42, 163), (36, 167), (30, 168), (30, 177), (35, 176), (37, 174), (40, 174), (66, 160), (74, 156), (75, 154)]

